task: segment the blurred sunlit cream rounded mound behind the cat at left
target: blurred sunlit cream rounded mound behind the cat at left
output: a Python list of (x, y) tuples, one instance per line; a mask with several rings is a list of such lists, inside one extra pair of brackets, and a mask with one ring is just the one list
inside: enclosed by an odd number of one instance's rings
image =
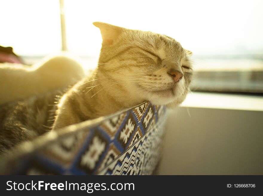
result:
[(0, 64), (0, 105), (75, 84), (82, 66), (65, 55), (48, 56), (32, 66)]

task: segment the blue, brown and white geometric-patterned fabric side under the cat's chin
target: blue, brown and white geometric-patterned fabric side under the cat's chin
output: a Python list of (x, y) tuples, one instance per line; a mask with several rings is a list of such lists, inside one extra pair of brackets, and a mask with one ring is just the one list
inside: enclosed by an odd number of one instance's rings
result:
[(0, 174), (150, 175), (160, 159), (166, 109), (145, 102), (25, 142)]

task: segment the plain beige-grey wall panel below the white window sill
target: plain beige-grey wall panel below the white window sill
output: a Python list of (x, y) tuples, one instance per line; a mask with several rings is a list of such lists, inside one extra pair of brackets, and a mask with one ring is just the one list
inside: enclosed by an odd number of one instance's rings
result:
[[(188, 110), (188, 111), (187, 111)], [(179, 107), (160, 175), (263, 175), (263, 111)]]

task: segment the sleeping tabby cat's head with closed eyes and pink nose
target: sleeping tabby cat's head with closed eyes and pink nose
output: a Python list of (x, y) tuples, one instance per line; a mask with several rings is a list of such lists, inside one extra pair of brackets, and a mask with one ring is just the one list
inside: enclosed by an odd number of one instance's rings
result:
[(184, 101), (192, 79), (190, 51), (158, 33), (93, 24), (103, 38), (98, 68), (112, 85), (153, 104)]

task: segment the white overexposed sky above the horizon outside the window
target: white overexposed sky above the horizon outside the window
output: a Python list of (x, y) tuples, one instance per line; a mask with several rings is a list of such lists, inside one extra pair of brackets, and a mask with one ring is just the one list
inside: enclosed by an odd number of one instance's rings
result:
[[(64, 0), (68, 50), (97, 56), (102, 21), (153, 31), (179, 41), (196, 55), (263, 54), (263, 1)], [(19, 55), (61, 49), (58, 0), (0, 0), (0, 45)]]

